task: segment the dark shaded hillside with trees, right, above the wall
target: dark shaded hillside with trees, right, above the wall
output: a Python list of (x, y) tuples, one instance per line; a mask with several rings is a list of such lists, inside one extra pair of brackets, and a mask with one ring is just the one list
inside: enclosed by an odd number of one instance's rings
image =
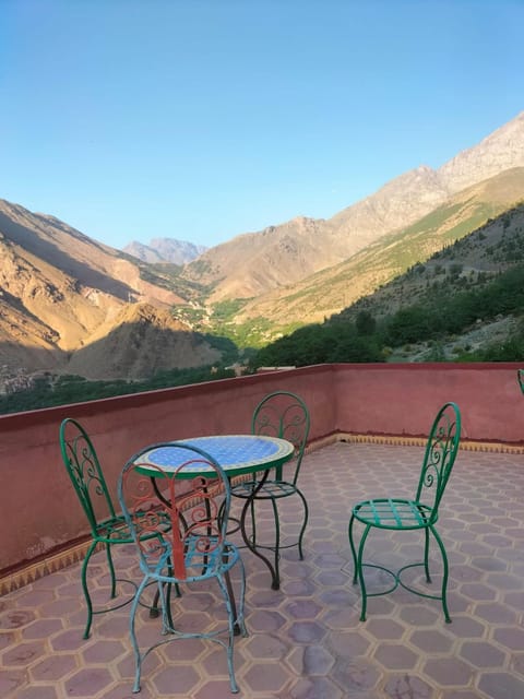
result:
[(276, 339), (254, 362), (520, 362), (523, 356), (524, 202), (326, 322)]

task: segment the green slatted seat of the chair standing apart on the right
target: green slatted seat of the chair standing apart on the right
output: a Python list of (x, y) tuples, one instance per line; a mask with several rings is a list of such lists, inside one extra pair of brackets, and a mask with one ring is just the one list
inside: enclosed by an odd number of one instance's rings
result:
[(434, 524), (432, 508), (417, 500), (379, 498), (364, 500), (353, 508), (355, 518), (379, 529), (421, 529)]

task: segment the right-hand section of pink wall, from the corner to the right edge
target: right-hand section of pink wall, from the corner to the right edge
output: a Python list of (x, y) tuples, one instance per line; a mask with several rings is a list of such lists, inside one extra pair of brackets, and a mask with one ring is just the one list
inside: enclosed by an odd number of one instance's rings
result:
[(524, 441), (524, 396), (519, 365), (335, 365), (337, 431), (427, 435), (438, 408), (461, 408), (463, 439)]

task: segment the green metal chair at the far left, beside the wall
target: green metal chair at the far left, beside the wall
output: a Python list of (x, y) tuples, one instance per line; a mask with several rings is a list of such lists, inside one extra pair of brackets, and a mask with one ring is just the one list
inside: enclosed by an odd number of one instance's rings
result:
[[(82, 590), (87, 607), (87, 621), (84, 630), (84, 639), (86, 639), (90, 637), (95, 614), (119, 609), (133, 600), (131, 594), (110, 607), (94, 609), (87, 583), (87, 568), (91, 557), (99, 546), (105, 548), (111, 581), (111, 600), (117, 597), (117, 582), (131, 584), (134, 592), (136, 584), (133, 581), (116, 577), (111, 555), (111, 546), (132, 544), (133, 537), (123, 516), (116, 513), (100, 462), (90, 436), (84, 427), (71, 417), (62, 420), (60, 425), (60, 450), (71, 483), (90, 523), (92, 536), (82, 564), (81, 574)], [(155, 615), (155, 606), (151, 608), (151, 613)]]

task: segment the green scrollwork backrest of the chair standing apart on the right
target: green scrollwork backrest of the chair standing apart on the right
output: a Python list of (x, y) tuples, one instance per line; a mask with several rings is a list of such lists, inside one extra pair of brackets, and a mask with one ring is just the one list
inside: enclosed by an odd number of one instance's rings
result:
[(417, 501), (425, 501), (433, 509), (432, 521), (455, 463), (461, 440), (461, 412), (455, 403), (445, 403), (437, 413), (429, 433), (424, 454)]

